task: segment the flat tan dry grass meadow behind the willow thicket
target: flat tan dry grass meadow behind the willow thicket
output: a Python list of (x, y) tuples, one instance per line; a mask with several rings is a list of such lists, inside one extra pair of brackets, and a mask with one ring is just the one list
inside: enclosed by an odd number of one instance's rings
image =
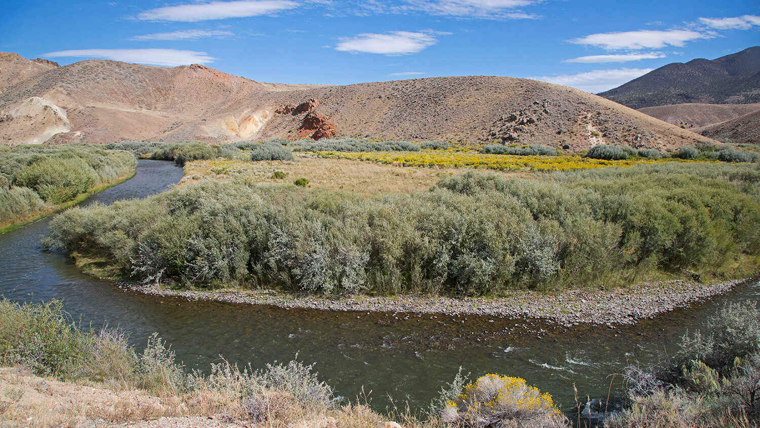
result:
[[(347, 159), (325, 159), (297, 155), (289, 160), (196, 160), (185, 165), (181, 184), (197, 182), (204, 177), (230, 179), (233, 176), (252, 177), (262, 183), (292, 183), (304, 177), (309, 187), (326, 190), (345, 190), (364, 194), (407, 193), (429, 189), (442, 176), (461, 173), (462, 168), (410, 168), (384, 163), (356, 162)], [(272, 174), (282, 171), (287, 176), (275, 179)], [(496, 172), (502, 176), (521, 176), (524, 173)]]

